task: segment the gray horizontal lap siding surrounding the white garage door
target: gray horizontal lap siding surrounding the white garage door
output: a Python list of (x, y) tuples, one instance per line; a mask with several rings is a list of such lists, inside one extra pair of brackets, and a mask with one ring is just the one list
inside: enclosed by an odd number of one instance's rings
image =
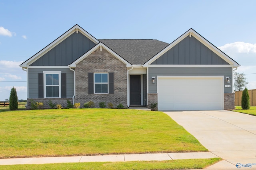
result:
[[(156, 78), (155, 84), (151, 82), (152, 76)], [(225, 81), (226, 76), (232, 77), (232, 67), (150, 67), (148, 68), (148, 93), (157, 93), (157, 76), (224, 76), (224, 85), (233, 86), (232, 81), (228, 84)], [(224, 88), (224, 93), (232, 93), (232, 88)]]

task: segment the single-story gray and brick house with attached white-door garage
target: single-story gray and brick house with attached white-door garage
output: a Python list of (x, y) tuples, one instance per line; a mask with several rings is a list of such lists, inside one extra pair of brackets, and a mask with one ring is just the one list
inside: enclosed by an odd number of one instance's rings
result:
[(20, 65), (31, 100), (67, 106), (111, 102), (158, 110), (234, 109), (233, 71), (240, 66), (194, 29), (172, 43), (96, 39), (74, 25)]

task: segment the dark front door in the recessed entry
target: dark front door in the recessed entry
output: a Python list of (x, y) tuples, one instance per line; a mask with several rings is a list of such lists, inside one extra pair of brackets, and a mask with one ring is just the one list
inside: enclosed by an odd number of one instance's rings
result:
[(140, 75), (130, 75), (130, 105), (141, 105)]

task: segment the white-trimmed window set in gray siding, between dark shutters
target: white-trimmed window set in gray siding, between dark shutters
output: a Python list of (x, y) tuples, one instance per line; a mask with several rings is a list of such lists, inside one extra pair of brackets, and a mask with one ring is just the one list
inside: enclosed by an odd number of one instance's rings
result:
[(58, 71), (44, 71), (44, 98), (61, 97), (60, 74)]

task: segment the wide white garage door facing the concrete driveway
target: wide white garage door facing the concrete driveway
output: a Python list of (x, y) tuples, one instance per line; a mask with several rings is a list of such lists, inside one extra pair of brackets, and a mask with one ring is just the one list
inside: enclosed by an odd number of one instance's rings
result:
[(223, 110), (221, 76), (158, 76), (158, 110)]

